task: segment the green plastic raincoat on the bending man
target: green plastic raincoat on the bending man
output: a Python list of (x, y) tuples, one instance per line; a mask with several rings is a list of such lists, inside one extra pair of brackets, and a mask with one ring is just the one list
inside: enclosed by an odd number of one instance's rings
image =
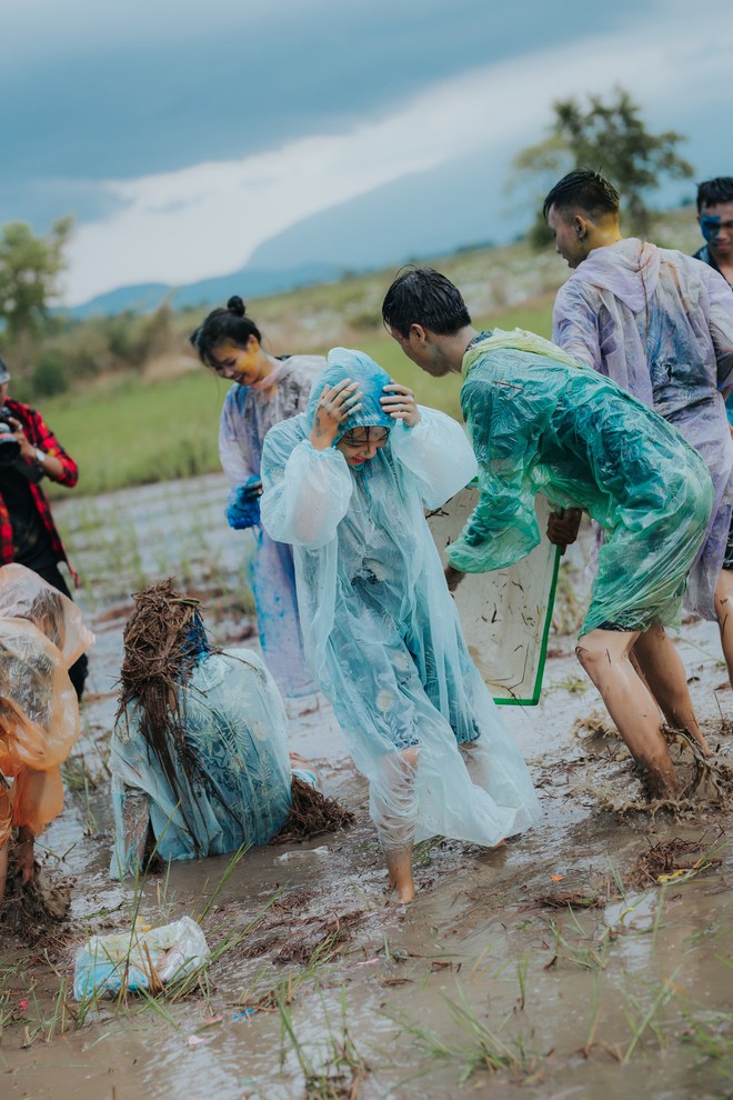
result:
[(713, 490), (674, 428), (533, 333), (481, 333), (461, 408), (479, 504), (448, 557), (464, 572), (510, 566), (540, 541), (534, 494), (586, 509), (605, 531), (581, 634), (674, 623)]

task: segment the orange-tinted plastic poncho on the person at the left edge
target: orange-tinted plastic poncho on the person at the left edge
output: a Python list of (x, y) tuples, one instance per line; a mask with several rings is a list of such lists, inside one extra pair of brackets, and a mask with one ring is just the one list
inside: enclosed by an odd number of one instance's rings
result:
[(0, 844), (61, 811), (60, 766), (79, 737), (68, 669), (93, 641), (66, 596), (24, 566), (0, 568)]

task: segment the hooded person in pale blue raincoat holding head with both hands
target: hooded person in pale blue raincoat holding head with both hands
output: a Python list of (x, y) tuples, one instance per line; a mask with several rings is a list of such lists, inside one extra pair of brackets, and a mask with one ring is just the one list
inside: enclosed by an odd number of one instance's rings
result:
[(415, 840), (493, 846), (538, 817), (424, 519), (475, 470), (455, 421), (343, 348), (308, 412), (264, 441), (262, 522), (294, 548), (305, 656), (369, 779), (401, 901), (414, 896)]

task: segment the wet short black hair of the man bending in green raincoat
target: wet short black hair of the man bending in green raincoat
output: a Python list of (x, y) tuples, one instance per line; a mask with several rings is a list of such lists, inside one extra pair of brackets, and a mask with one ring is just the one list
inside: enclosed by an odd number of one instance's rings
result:
[(461, 291), (433, 268), (403, 268), (384, 296), (382, 320), (406, 337), (412, 324), (452, 336), (471, 323)]

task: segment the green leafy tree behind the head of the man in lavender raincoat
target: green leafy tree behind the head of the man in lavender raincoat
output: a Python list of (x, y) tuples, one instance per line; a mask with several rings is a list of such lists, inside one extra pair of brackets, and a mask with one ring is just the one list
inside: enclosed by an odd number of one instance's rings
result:
[[(566, 172), (591, 168), (602, 172), (621, 193), (622, 211), (630, 229), (649, 232), (649, 194), (664, 176), (689, 179), (694, 169), (677, 154), (684, 137), (674, 130), (650, 133), (641, 109), (629, 92), (616, 88), (604, 103), (600, 96), (589, 96), (584, 106), (578, 99), (556, 100), (550, 133), (538, 144), (529, 146), (514, 158), (515, 177), (539, 179), (542, 198)], [(540, 199), (540, 206), (542, 199)], [(542, 212), (530, 230), (535, 244), (551, 239)]]

